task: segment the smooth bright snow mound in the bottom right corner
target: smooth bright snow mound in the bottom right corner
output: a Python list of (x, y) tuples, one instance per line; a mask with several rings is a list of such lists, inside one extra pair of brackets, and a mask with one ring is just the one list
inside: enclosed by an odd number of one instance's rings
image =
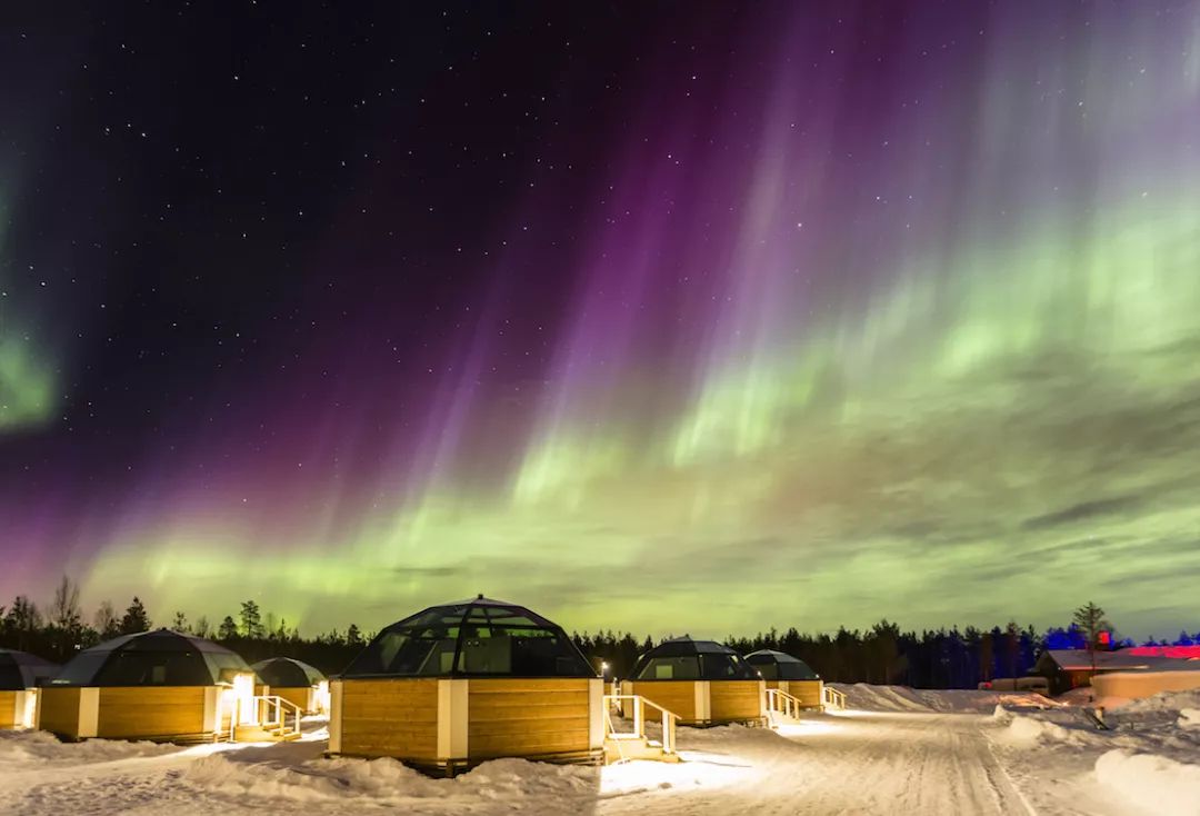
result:
[(1200, 816), (1200, 766), (1114, 750), (1096, 761), (1096, 778), (1130, 806), (1162, 816)]

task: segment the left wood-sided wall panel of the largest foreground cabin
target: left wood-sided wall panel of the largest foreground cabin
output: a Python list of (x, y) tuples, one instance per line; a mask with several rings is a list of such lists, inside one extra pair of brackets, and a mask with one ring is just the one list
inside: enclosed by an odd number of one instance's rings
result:
[(437, 752), (436, 679), (342, 683), (342, 754), (432, 763)]

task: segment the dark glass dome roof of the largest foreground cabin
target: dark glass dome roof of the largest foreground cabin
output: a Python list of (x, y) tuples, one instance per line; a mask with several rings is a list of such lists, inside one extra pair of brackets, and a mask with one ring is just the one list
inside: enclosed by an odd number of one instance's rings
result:
[(431, 606), (382, 630), (342, 677), (596, 677), (562, 626), (523, 606)]

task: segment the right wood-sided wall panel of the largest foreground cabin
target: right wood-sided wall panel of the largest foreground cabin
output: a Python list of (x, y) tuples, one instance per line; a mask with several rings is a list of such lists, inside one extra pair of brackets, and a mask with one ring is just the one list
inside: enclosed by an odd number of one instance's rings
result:
[(586, 679), (473, 679), (468, 758), (587, 754), (588, 709)]

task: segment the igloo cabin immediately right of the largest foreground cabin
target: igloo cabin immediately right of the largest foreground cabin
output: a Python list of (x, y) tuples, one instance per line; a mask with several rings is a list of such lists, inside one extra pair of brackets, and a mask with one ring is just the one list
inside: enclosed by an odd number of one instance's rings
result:
[(620, 692), (677, 714), (680, 725), (761, 725), (767, 716), (767, 685), (758, 672), (733, 649), (686, 636), (638, 658)]

